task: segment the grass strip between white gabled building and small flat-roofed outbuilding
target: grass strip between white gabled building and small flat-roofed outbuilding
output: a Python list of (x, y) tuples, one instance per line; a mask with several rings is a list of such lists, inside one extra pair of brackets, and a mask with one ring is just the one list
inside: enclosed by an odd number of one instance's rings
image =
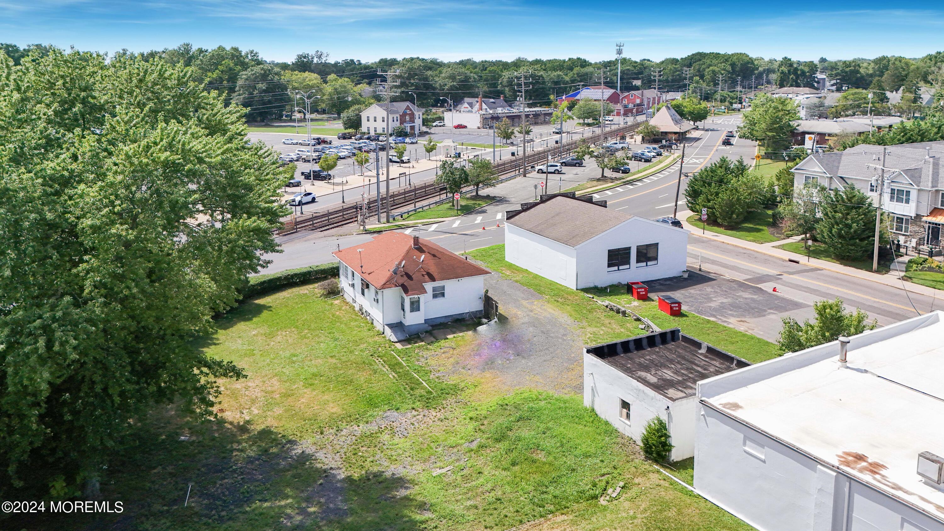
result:
[[(605, 310), (597, 302), (583, 295), (584, 292), (600, 300), (611, 300), (625, 307), (632, 306), (632, 311), (648, 318), (659, 328), (679, 327), (683, 334), (698, 337), (718, 349), (729, 351), (751, 363), (768, 360), (780, 352), (776, 345), (765, 339), (733, 329), (707, 317), (687, 311), (683, 311), (681, 316), (668, 316), (659, 311), (658, 302), (654, 298), (636, 301), (632, 299), (631, 294), (626, 293), (624, 286), (612, 286), (609, 292), (606, 287), (575, 291), (505, 261), (505, 246), (503, 245), (470, 250), (468, 254), (488, 268), (500, 272), (502, 277), (509, 278), (545, 296), (549, 304), (556, 306), (581, 323), (584, 339), (591, 345), (644, 333), (639, 330), (637, 322), (618, 317), (615, 313)], [(638, 304), (632, 305), (633, 302), (638, 302)]]

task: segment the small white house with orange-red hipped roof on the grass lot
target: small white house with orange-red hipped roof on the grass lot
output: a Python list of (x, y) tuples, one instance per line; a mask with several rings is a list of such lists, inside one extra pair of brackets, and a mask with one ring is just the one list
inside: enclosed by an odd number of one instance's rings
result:
[(482, 314), (491, 271), (429, 240), (384, 232), (332, 254), (345, 299), (392, 341)]

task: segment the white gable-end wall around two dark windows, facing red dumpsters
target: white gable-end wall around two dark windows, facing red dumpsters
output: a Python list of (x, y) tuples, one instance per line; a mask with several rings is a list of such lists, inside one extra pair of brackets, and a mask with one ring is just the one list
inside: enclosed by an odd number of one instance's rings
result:
[[(654, 243), (659, 244), (659, 263), (637, 267), (636, 246)], [(607, 251), (626, 247), (632, 247), (630, 268), (607, 271)], [(665, 223), (633, 218), (583, 242), (576, 249), (578, 289), (678, 277), (685, 269), (688, 231), (675, 229)]]

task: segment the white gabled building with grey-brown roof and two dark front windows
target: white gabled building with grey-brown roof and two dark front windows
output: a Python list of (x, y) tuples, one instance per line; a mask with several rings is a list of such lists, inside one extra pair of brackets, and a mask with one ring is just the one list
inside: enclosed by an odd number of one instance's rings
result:
[(681, 276), (688, 231), (573, 193), (509, 211), (505, 260), (574, 289)]

